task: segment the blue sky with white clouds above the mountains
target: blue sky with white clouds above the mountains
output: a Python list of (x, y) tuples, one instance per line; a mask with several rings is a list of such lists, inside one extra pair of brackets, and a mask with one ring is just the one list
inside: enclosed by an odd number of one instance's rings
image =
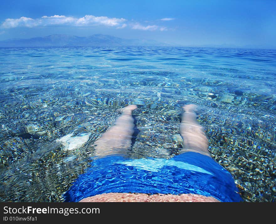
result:
[(0, 40), (51, 34), (276, 48), (275, 0), (1, 0)]

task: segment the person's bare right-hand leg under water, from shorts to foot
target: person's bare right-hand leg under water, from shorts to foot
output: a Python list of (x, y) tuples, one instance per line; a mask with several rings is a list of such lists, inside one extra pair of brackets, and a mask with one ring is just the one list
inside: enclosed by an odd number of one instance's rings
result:
[(188, 104), (183, 106), (183, 109), (185, 112), (182, 114), (182, 120), (179, 125), (180, 135), (183, 138), (183, 149), (179, 153), (193, 151), (211, 156), (204, 128), (197, 122), (196, 114), (194, 113), (197, 106)]

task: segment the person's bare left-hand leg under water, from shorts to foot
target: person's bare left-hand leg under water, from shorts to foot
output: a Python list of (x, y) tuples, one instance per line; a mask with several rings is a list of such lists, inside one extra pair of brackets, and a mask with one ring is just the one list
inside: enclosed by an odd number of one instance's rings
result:
[(121, 116), (115, 121), (115, 125), (95, 141), (94, 156), (127, 154), (131, 149), (131, 138), (134, 133), (132, 112), (135, 109), (137, 109), (136, 105), (128, 105), (118, 110)]

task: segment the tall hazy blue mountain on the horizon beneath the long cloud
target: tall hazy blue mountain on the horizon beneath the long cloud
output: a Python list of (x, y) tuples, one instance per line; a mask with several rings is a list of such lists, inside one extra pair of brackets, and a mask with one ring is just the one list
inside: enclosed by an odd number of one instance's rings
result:
[(124, 39), (110, 35), (94, 34), (89, 37), (54, 34), (29, 39), (0, 41), (0, 47), (88, 47), (88, 46), (170, 46), (154, 40)]

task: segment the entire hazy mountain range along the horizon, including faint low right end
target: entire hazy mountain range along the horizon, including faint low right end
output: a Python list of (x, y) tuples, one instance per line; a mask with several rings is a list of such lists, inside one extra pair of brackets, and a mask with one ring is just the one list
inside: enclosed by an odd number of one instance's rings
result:
[[(158, 46), (158, 47), (198, 47), (198, 48), (251, 48), (269, 49), (258, 45), (236, 46), (234, 44), (185, 45), (158, 42), (146, 39), (126, 39), (111, 35), (94, 34), (89, 37), (79, 37), (65, 34), (53, 34), (46, 37), (29, 39), (13, 38), (0, 41), (0, 48), (10, 47), (119, 47), (119, 46)], [(275, 48), (270, 48), (275, 49)]]

